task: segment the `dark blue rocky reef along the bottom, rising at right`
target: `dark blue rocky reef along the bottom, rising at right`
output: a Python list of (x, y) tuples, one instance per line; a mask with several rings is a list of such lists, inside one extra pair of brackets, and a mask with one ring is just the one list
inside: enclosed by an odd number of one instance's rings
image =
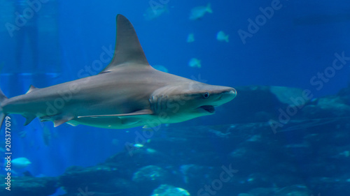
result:
[(15, 177), (13, 190), (36, 196), (58, 187), (64, 196), (350, 195), (350, 89), (323, 98), (276, 86), (237, 91), (237, 100), (217, 114), (230, 124), (143, 130), (140, 135), (152, 135), (148, 140), (125, 144), (102, 164), (69, 167), (57, 178)]

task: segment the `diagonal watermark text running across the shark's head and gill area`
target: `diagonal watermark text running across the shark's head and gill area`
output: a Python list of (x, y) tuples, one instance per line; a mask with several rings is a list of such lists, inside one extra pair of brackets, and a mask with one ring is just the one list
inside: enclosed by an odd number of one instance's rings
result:
[[(200, 75), (198, 75), (198, 77), (191, 76), (191, 79), (195, 80), (196, 82), (190, 83), (186, 91), (191, 91), (195, 89), (195, 85), (198, 84), (197, 82), (207, 82), (207, 80), (202, 80)], [(162, 103), (162, 105), (164, 107), (167, 107), (167, 111), (160, 110), (157, 112), (154, 119), (148, 119), (146, 121), (146, 125), (144, 126), (144, 130), (142, 130), (142, 133), (140, 133), (139, 131), (135, 131), (134, 133), (136, 137), (134, 143), (125, 142), (125, 149), (127, 149), (127, 152), (130, 156), (133, 156), (134, 150), (138, 149), (138, 147), (134, 144), (146, 144), (147, 140), (151, 139), (155, 132), (158, 132), (158, 130), (160, 130), (162, 124), (169, 123), (169, 114), (176, 114), (176, 112), (179, 112), (181, 106), (186, 104), (186, 101), (188, 101), (189, 98), (186, 96), (182, 96), (183, 94), (185, 94), (185, 91), (183, 91), (183, 93), (180, 93), (180, 95), (176, 96), (175, 98), (164, 98), (164, 100), (160, 100), (160, 102), (164, 102)], [(150, 103), (152, 105), (151, 99)], [(155, 99), (154, 104), (158, 103), (158, 99)]]

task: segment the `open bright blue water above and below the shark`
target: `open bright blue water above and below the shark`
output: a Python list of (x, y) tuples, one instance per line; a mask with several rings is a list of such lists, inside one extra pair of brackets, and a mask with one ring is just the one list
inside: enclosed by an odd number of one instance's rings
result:
[[(82, 68), (100, 60), (106, 48), (114, 48), (117, 14), (134, 25), (149, 63), (165, 66), (174, 75), (233, 87), (309, 89), (314, 98), (335, 94), (349, 84), (349, 59), (337, 61), (341, 68), (330, 68), (338, 54), (350, 56), (347, 1), (211, 1), (213, 13), (196, 21), (189, 20), (190, 10), (207, 1), (163, 1), (167, 11), (145, 20), (150, 2), (48, 1), (41, 3), (28, 27), (13, 31), (11, 37), (5, 24), (15, 23), (15, 3), (1, 0), (6, 5), (0, 8), (4, 13), (0, 21), (2, 91), (13, 97), (25, 93), (30, 84), (41, 88), (80, 78)], [(272, 2), (279, 8), (242, 40), (239, 30), (248, 32), (248, 19), (255, 21), (262, 15), (260, 8), (271, 7)], [(230, 42), (216, 40), (218, 31), (230, 35)], [(189, 33), (195, 34), (195, 42), (186, 42)], [(202, 67), (188, 66), (191, 58), (200, 59)], [(99, 70), (107, 64), (102, 63)], [(230, 116), (220, 116), (220, 110), (216, 115), (222, 121), (206, 117), (183, 125), (230, 123)], [(102, 163), (123, 150), (125, 142), (134, 142), (135, 131), (140, 130), (53, 128), (52, 123), (38, 120), (22, 126), (24, 122), (22, 116), (13, 115), (13, 158), (31, 160), (27, 170), (34, 176), (59, 176), (71, 165)], [(50, 144), (43, 141), (43, 127), (50, 132)], [(25, 135), (19, 134), (22, 131)]]

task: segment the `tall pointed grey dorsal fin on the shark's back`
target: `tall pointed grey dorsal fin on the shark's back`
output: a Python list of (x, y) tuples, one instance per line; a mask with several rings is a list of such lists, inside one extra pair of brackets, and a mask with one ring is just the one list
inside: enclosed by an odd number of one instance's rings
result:
[(101, 73), (111, 72), (120, 65), (150, 66), (134, 27), (123, 15), (117, 15), (116, 49), (113, 59)]

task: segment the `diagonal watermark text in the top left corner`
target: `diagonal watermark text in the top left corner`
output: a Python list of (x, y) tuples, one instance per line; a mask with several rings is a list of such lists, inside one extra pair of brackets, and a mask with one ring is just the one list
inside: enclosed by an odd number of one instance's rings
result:
[(48, 3), (50, 0), (27, 0), (27, 8), (22, 13), (15, 12), (15, 22), (6, 22), (5, 27), (8, 34), (13, 38), (14, 31), (20, 31), (21, 27), (24, 27), (29, 20), (31, 20), (38, 11), (43, 7), (43, 3)]

